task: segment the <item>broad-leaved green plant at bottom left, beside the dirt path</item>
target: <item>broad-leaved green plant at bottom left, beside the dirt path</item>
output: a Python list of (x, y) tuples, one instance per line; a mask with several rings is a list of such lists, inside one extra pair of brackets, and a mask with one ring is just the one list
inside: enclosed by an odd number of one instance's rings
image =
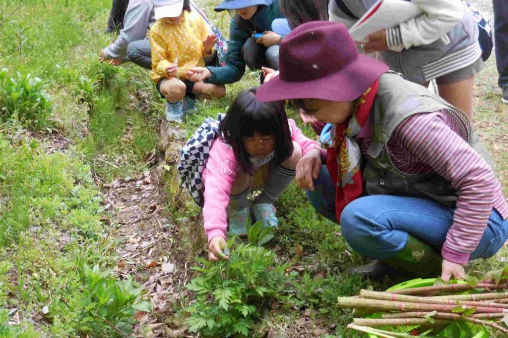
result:
[[(90, 314), (115, 325), (123, 333), (132, 332), (136, 311), (151, 311), (148, 302), (139, 301), (143, 288), (134, 287), (132, 276), (121, 282), (112, 276), (111, 270), (102, 271), (99, 265), (90, 268), (87, 264), (83, 265), (80, 275), (85, 282), (83, 292), (89, 302)], [(103, 327), (97, 322), (92, 323), (94, 332)]]

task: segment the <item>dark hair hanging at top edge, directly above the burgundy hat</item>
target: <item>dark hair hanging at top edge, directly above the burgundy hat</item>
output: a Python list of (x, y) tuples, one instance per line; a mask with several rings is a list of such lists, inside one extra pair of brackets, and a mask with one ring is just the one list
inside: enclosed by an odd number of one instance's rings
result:
[(280, 0), (279, 5), (291, 28), (309, 21), (328, 21), (328, 0)]

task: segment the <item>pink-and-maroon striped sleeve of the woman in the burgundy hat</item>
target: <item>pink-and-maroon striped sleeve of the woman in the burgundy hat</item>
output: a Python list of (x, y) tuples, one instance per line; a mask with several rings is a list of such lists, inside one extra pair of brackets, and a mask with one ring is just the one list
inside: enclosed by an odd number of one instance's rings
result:
[(465, 264), (487, 226), (497, 181), (484, 159), (447, 122), (444, 112), (414, 115), (401, 123), (392, 137), (458, 191), (453, 224), (441, 255)]

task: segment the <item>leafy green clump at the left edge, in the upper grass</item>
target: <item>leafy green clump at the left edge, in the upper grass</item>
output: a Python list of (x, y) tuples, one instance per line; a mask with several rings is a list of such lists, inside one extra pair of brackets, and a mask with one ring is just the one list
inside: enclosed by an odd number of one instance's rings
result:
[(43, 81), (30, 73), (18, 71), (11, 77), (7, 68), (0, 69), (0, 121), (17, 118), (31, 128), (46, 127), (53, 107), (44, 87)]

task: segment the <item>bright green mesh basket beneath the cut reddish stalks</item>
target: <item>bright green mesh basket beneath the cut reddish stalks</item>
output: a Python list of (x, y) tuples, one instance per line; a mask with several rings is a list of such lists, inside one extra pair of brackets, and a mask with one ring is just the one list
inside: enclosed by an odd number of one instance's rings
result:
[[(394, 286), (388, 288), (387, 291), (410, 289), (410, 288), (414, 288), (414, 287), (432, 286), (432, 285), (434, 285), (435, 281), (436, 281), (435, 278), (411, 279), (409, 281), (405, 281), (400, 284), (394, 285)], [(465, 282), (459, 281), (459, 283), (465, 283)], [(464, 293), (467, 293), (467, 292), (464, 292)], [(383, 315), (383, 312), (376, 312), (376, 313), (369, 315), (367, 318), (381, 318), (382, 315)], [(489, 331), (482, 325), (475, 325), (475, 324), (470, 324), (470, 323), (468, 323), (468, 325), (471, 326), (473, 332), (475, 333), (473, 338), (489, 338), (489, 336), (490, 336)], [(418, 327), (419, 326), (397, 326), (397, 327), (385, 326), (385, 327), (379, 327), (379, 329), (386, 330), (386, 331), (392, 331), (392, 332), (410, 333), (412, 330), (414, 330)], [(420, 335), (425, 335), (425, 334), (426, 333), (420, 333)], [(378, 336), (375, 334), (367, 333), (367, 335), (369, 336), (369, 338), (378, 338)], [(438, 336), (452, 337), (452, 333), (451, 333), (451, 330), (448, 329), (448, 327), (446, 327), (438, 334)]]

